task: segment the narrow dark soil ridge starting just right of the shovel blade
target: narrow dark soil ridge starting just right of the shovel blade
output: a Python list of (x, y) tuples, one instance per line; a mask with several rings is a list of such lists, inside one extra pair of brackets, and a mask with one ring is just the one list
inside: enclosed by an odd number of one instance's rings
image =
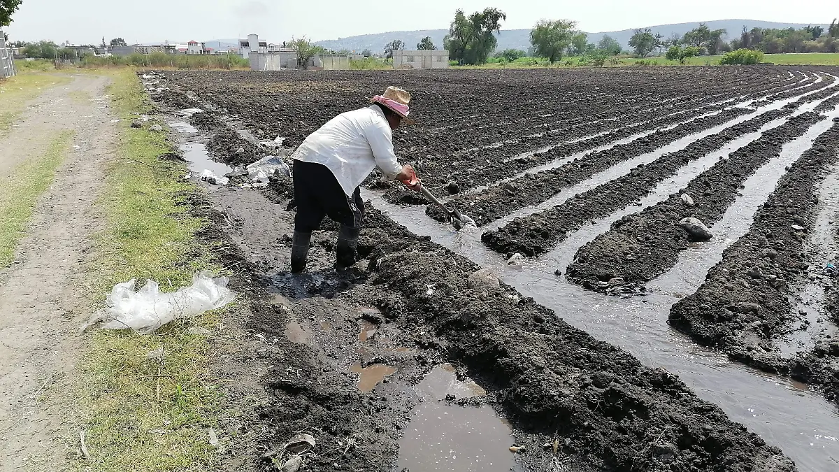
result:
[(629, 174), (577, 194), (550, 210), (515, 218), (503, 228), (484, 233), (481, 239), (502, 254), (519, 253), (530, 257), (545, 254), (564, 240), (567, 233), (646, 197), (660, 181), (674, 175), (691, 160), (721, 149), (732, 139), (757, 131), (763, 124), (787, 114), (789, 110), (770, 111), (722, 133), (699, 139), (683, 150), (665, 154), (649, 165), (638, 165)]

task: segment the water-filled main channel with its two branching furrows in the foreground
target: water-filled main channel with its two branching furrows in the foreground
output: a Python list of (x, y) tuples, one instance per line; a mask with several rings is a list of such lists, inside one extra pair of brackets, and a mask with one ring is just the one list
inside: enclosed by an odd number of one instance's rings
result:
[[(567, 323), (627, 349), (644, 364), (663, 367), (679, 375), (698, 396), (720, 406), (733, 421), (742, 422), (768, 443), (783, 448), (785, 454), (795, 459), (800, 470), (821, 472), (835, 469), (836, 460), (839, 460), (839, 443), (829, 439), (839, 437), (836, 407), (807, 391), (805, 385), (766, 375), (743, 364), (732, 364), (725, 355), (704, 349), (670, 329), (667, 318), (670, 307), (680, 296), (696, 291), (701, 285), (707, 270), (722, 257), (727, 244), (748, 230), (753, 212), (773, 191), (784, 173), (784, 166), (810, 147), (812, 140), (826, 130), (829, 123), (829, 119), (818, 123), (800, 139), (784, 146), (779, 158), (758, 170), (746, 182), (743, 197), (739, 197), (732, 210), (711, 228), (718, 236), (707, 244), (683, 251), (676, 267), (651, 283), (653, 293), (643, 298), (624, 300), (586, 291), (554, 274), (557, 260), (526, 260), (524, 265), (507, 265), (500, 255), (481, 243), (480, 231), (458, 233), (426, 218), (423, 208), (393, 206), (369, 192), (365, 199), (372, 200), (374, 207), (387, 212), (412, 232), (429, 236), (435, 243), (478, 265), (492, 268), (522, 295), (531, 296), (535, 302), (553, 309)], [(701, 164), (700, 161), (694, 163)], [(681, 178), (689, 181), (697, 171), (700, 169), (692, 169)], [(678, 183), (671, 181), (670, 185)], [(651, 204), (656, 198), (662, 196), (653, 194), (642, 205)], [(628, 208), (624, 212), (640, 209)], [(560, 259), (557, 254), (573, 257), (576, 249), (618, 218), (618, 215), (612, 215), (569, 234), (553, 258)], [(597, 228), (598, 225), (602, 226)]]

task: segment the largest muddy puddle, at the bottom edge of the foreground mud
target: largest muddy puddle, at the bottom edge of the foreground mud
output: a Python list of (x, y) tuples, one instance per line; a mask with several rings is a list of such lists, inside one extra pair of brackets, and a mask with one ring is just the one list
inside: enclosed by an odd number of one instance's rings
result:
[(479, 385), (471, 380), (457, 380), (454, 366), (442, 364), (425, 375), (414, 392), (422, 402), (411, 411), (410, 422), (399, 439), (399, 460), (394, 471), (516, 470), (510, 452), (514, 445), (512, 430), (492, 406), (451, 403), (452, 399), (486, 395)]

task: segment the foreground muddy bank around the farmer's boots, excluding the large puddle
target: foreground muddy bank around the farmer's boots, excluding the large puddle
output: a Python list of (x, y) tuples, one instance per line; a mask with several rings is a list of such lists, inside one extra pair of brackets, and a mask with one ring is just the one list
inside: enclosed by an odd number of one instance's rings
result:
[[(242, 114), (225, 108), (216, 118)], [(202, 123), (224, 129), (208, 118), (196, 126)], [(257, 432), (251, 466), (276, 469), (289, 457), (279, 448), (307, 433), (317, 442), (305, 454), (306, 469), (392, 469), (420, 404), (413, 387), (449, 362), (486, 395), (443, 402), (503, 413), (513, 428), (509, 445), (523, 447), (513, 456), (517, 468), (795, 470), (778, 448), (674, 375), (591, 338), (492, 275), (477, 277), (477, 265), (372, 207), (355, 267), (331, 269), (335, 225), (325, 223), (307, 273), (290, 275), (289, 185), (274, 181), (263, 193), (211, 186), (207, 193), (223, 215), (214, 221), (229, 233), (225, 265), (236, 267), (250, 312), (238, 321), (242, 350), (224, 359), (220, 375), (253, 364), (267, 370), (258, 394), (234, 397), (253, 398), (244, 413), (253, 417), (238, 429)]]

